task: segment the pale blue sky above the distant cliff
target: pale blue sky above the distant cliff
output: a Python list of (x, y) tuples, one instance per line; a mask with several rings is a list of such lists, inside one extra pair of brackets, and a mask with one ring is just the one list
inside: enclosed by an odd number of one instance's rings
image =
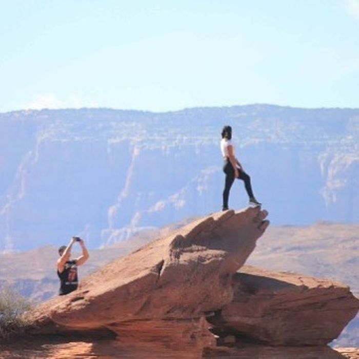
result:
[(0, 0), (0, 99), (359, 107), (359, 0)]

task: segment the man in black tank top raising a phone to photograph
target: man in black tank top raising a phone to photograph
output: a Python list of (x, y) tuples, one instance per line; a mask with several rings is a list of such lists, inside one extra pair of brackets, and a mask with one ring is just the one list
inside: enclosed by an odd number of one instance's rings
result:
[[(82, 255), (74, 260), (70, 260), (71, 247), (78, 242), (82, 248)], [(59, 295), (73, 292), (78, 287), (77, 267), (83, 265), (89, 258), (89, 253), (84, 241), (79, 237), (72, 237), (69, 245), (61, 246), (58, 249), (60, 258), (57, 260), (57, 275), (60, 278)]]

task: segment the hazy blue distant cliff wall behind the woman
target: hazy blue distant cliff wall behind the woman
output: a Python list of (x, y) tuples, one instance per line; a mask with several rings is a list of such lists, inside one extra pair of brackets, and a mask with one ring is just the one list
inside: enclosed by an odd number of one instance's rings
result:
[(359, 109), (17, 111), (0, 114), (0, 250), (98, 247), (217, 211), (224, 124), (274, 224), (359, 222)]

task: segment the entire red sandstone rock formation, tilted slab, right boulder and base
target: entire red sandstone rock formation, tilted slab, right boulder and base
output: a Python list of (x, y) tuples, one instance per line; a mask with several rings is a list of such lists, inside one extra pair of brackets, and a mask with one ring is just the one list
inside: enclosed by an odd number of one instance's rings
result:
[[(89, 275), (75, 292), (28, 314), (27, 333), (41, 334), (35, 340), (44, 347), (35, 357), (354, 355), (325, 345), (359, 308), (348, 287), (243, 267), (267, 215), (258, 207), (214, 213)], [(17, 350), (31, 357), (27, 343)], [(2, 354), (12, 357), (16, 350), (7, 346)]]

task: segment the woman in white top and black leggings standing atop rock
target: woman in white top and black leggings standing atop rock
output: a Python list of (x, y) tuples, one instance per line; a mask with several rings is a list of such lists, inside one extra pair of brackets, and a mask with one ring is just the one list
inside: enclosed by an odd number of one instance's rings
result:
[(234, 179), (242, 179), (249, 196), (249, 204), (260, 206), (259, 203), (252, 191), (251, 178), (244, 171), (238, 159), (234, 155), (234, 146), (232, 144), (232, 127), (224, 126), (222, 130), (222, 141), (221, 141), (221, 151), (224, 158), (223, 172), (226, 174), (225, 188), (223, 191), (223, 207), (222, 210), (226, 211), (228, 209), (228, 197), (229, 191), (233, 185)]

